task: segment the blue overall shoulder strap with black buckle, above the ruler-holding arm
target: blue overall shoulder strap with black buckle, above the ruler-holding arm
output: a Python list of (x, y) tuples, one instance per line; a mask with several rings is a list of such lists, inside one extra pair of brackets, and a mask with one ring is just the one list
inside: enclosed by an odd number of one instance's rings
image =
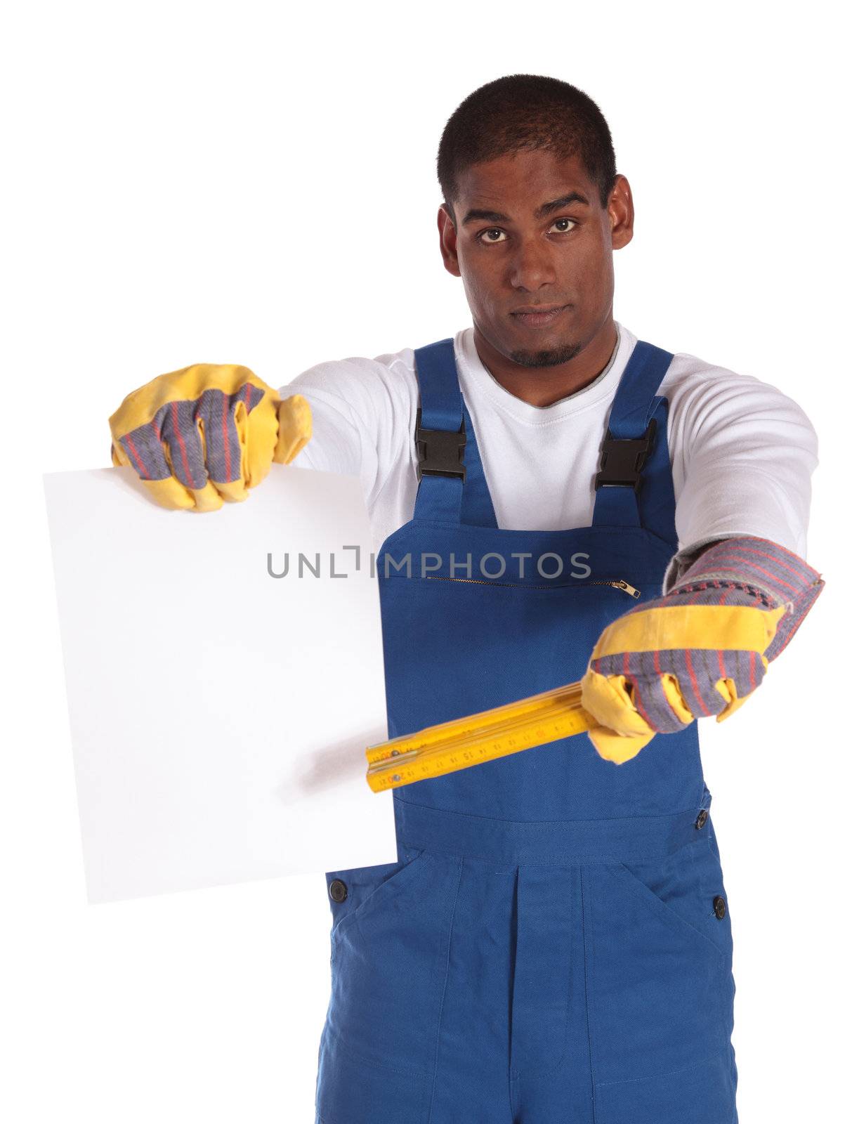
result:
[(677, 546), (668, 402), (656, 396), (673, 357), (643, 339), (633, 348), (601, 445), (592, 524), (645, 527)]

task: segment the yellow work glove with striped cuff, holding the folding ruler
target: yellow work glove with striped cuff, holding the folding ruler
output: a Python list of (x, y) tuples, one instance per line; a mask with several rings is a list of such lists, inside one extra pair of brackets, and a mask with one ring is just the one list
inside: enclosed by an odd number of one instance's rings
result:
[(825, 582), (767, 538), (727, 538), (706, 550), (664, 597), (608, 625), (582, 679), (589, 737), (622, 764), (656, 733), (695, 718), (722, 722), (760, 686)]

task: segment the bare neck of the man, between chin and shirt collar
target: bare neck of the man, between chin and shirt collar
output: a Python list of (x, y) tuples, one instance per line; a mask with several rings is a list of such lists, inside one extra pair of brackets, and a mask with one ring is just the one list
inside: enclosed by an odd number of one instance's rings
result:
[(531, 406), (552, 406), (593, 382), (613, 356), (618, 332), (613, 317), (573, 359), (556, 366), (523, 366), (497, 351), (473, 326), (477, 354), (488, 371), (510, 395)]

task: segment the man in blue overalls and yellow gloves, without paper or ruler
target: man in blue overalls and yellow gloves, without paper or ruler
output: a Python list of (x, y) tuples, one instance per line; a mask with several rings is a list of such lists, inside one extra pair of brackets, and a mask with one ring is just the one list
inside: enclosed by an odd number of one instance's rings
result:
[(598, 723), (396, 789), (399, 861), (327, 873), (317, 1121), (728, 1124), (695, 718), (742, 705), (822, 590), (816, 437), (774, 388), (614, 320), (633, 201), (584, 93), (488, 83), (438, 179), (472, 327), (320, 363), (283, 400), (245, 368), (161, 375), (110, 419), (114, 460), (201, 510), (273, 459), (360, 474), (391, 736), (581, 678)]

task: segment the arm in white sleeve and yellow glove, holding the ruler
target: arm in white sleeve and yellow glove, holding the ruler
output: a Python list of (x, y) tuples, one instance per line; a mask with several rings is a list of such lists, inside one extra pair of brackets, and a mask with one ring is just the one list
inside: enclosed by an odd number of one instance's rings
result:
[(604, 631), (583, 678), (590, 737), (617, 763), (656, 733), (733, 714), (823, 589), (803, 556), (813, 427), (774, 388), (727, 374), (674, 395), (676, 520), (690, 545), (662, 597)]

